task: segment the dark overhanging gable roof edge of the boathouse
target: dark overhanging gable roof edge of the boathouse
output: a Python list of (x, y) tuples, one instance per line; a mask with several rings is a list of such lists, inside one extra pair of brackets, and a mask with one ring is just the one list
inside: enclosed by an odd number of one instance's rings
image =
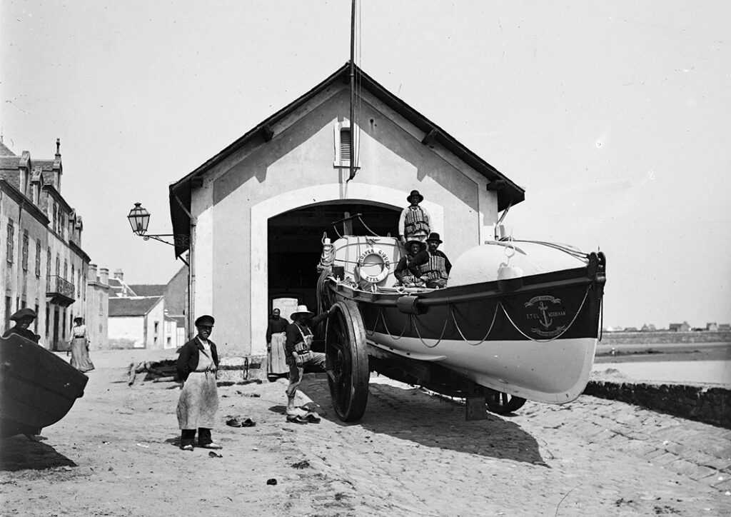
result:
[[(355, 74), (360, 83), (360, 89), (368, 90), (377, 99), (390, 107), (395, 113), (404, 117), (415, 127), (421, 129), (425, 134), (424, 142), (439, 143), (452, 154), (460, 158), (467, 165), (472, 167), (477, 173), (482, 174), (493, 182), (494, 189), (498, 195), (498, 211), (503, 211), (510, 205), (517, 205), (525, 200), (525, 190), (516, 185), (507, 176), (504, 176), (499, 170), (485, 162), (480, 156), (474, 154), (468, 148), (459, 143), (454, 137), (449, 135), (444, 129), (440, 128), (428, 118), (418, 113), (406, 102), (390, 93), (386, 88), (377, 83), (371, 76), (363, 72), (360, 67), (355, 66)], [(227, 156), (230, 156), (239, 148), (249, 143), (251, 140), (260, 139), (267, 142), (272, 137), (271, 126), (286, 118), (290, 114), (298, 110), (299, 107), (305, 105), (308, 101), (316, 97), (326, 88), (335, 83), (348, 83), (350, 77), (350, 61), (347, 61), (342, 67), (336, 70), (333, 75), (319, 83), (299, 99), (285, 106), (272, 116), (262, 121), (256, 127), (246, 132), (242, 137), (235, 140), (230, 146), (224, 148), (215, 156), (208, 159), (205, 163), (193, 170), (187, 176), (181, 178), (174, 184), (170, 185), (170, 219), (173, 222), (173, 233), (181, 235), (189, 235), (190, 233), (190, 205), (191, 192), (194, 181), (205, 175), (211, 167), (222, 162)], [(175, 257), (189, 249), (189, 242), (181, 239), (175, 241)]]

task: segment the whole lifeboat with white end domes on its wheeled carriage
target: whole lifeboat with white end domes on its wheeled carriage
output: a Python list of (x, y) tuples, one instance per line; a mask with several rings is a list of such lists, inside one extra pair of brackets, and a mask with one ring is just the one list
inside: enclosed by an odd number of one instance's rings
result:
[(442, 289), (395, 287), (396, 238), (324, 236), (318, 311), (333, 407), (359, 420), (371, 371), (514, 412), (526, 399), (575, 400), (600, 329), (605, 257), (541, 241), (490, 241), (458, 257)]

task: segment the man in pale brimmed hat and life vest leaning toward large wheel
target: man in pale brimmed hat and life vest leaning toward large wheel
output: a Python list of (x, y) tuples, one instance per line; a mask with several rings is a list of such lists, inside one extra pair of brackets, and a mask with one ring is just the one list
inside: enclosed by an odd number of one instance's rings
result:
[(297, 388), (302, 382), (305, 367), (319, 366), (322, 368), (325, 366), (325, 354), (311, 350), (314, 337), (312, 329), (330, 316), (330, 311), (314, 317), (314, 313), (310, 312), (306, 305), (299, 305), (297, 311), (292, 312), (290, 316), (292, 324), (287, 327), (287, 344), (284, 347), (287, 353), (287, 364), (289, 365), (289, 386), (287, 386), (288, 420), (302, 416), (298, 415), (298, 410), (295, 407), (295, 395), (297, 395)]

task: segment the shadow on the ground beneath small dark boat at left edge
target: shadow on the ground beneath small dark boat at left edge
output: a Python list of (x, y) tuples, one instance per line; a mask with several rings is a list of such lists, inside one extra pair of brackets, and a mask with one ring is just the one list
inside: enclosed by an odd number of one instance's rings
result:
[(0, 471), (43, 470), (55, 467), (78, 467), (56, 449), (22, 434), (0, 440)]

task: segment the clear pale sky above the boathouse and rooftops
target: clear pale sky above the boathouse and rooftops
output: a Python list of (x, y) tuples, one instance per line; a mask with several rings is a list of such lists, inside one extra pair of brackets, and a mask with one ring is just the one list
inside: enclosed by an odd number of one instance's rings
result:
[[(357, 64), (526, 189), (515, 238), (607, 255), (604, 323), (731, 322), (727, 1), (363, 0)], [(83, 249), (164, 284), (168, 186), (349, 59), (350, 1), (0, 3), (0, 125)]]

